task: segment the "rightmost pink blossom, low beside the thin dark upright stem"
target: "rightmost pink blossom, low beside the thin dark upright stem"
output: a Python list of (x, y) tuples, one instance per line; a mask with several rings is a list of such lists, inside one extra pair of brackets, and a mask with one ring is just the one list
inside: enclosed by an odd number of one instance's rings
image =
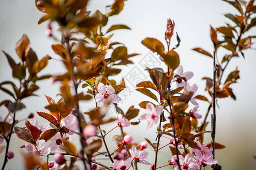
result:
[(206, 165), (217, 164), (217, 160), (213, 159), (212, 148), (208, 148), (205, 145), (201, 145), (200, 142), (196, 142), (201, 150), (192, 148), (192, 151), (195, 153), (195, 160), (199, 165), (205, 167)]

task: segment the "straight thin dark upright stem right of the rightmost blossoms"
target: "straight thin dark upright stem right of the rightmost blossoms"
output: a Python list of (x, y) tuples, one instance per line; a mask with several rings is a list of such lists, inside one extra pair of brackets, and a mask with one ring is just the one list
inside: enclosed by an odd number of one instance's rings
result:
[[(213, 148), (212, 155), (213, 159), (215, 159), (215, 134), (216, 134), (216, 109), (215, 109), (215, 100), (216, 100), (216, 72), (217, 67), (215, 63), (215, 52), (213, 52), (213, 92), (212, 92), (212, 143), (211, 146)], [(212, 165), (212, 169), (215, 168), (215, 164)]]

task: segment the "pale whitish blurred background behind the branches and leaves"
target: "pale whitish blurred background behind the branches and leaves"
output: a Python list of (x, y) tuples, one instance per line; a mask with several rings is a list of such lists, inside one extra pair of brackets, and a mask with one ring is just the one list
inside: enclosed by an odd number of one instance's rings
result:
[[(101, 12), (105, 12), (105, 7), (111, 5), (113, 1), (103, 1), (94, 0), (90, 1), (88, 9), (95, 11), (99, 9)], [(37, 21), (43, 16), (43, 13), (38, 11), (35, 7), (33, 1), (23, 0), (23, 1), (0, 1), (0, 49), (5, 50), (12, 57), (17, 59), (15, 53), (15, 44), (22, 37), (23, 33), (26, 33), (31, 42), (31, 47), (37, 53), (39, 58), (43, 57), (45, 54), (49, 54), (53, 58), (58, 58), (56, 54), (53, 53), (51, 49), (52, 44), (57, 44), (58, 42), (45, 37), (44, 32), (46, 29), (46, 23), (37, 25)], [(166, 20), (171, 18), (175, 20), (175, 32), (177, 31), (179, 37), (181, 37), (181, 46), (177, 49), (179, 56), (181, 58), (181, 65), (184, 67), (184, 71), (193, 71), (194, 77), (190, 80), (190, 84), (199, 84), (198, 94), (205, 94), (205, 82), (201, 80), (203, 76), (212, 75), (212, 61), (209, 57), (205, 57), (202, 54), (196, 53), (191, 49), (196, 47), (202, 47), (203, 49), (212, 52), (213, 45), (209, 37), (209, 25), (213, 27), (220, 27), (225, 24), (225, 22), (231, 23), (225, 18), (224, 14), (237, 12), (235, 8), (230, 6), (228, 3), (223, 1), (153, 1), (153, 0), (129, 0), (125, 1), (124, 10), (120, 15), (113, 16), (109, 19), (107, 28), (112, 24), (126, 24), (132, 31), (120, 30), (116, 31), (112, 41), (123, 42), (127, 48), (128, 53), (140, 53), (141, 55), (133, 59), (136, 65), (129, 65), (128, 67), (123, 67), (124, 70), (121, 72), (121, 76), (129, 75), (129, 71), (137, 69), (142, 71), (144, 75), (148, 74), (143, 71), (143, 67), (138, 61), (142, 58), (148, 56), (149, 50), (141, 44), (141, 40), (145, 37), (154, 37), (158, 40), (165, 42), (164, 33), (166, 30)], [(56, 25), (53, 25), (53, 29), (57, 29)], [(255, 35), (256, 29), (251, 29), (250, 35)], [(57, 32), (54, 32), (57, 35)], [(255, 42), (255, 40), (253, 40)], [(177, 42), (175, 41), (175, 36), (173, 37), (173, 45)], [(253, 45), (255, 48), (255, 45)], [(223, 53), (224, 54), (224, 53)], [(219, 56), (223, 56), (219, 53)], [(5, 80), (11, 80), (10, 66), (7, 63), (6, 57), (3, 53), (0, 54), (0, 82)], [(155, 58), (158, 59), (156, 54), (153, 54)], [(217, 109), (217, 134), (216, 142), (219, 142), (226, 146), (224, 150), (216, 151), (216, 159), (223, 169), (255, 169), (256, 160), (253, 155), (256, 155), (256, 105), (254, 101), (255, 92), (255, 63), (256, 63), (256, 53), (255, 50), (246, 50), (245, 57), (232, 59), (228, 66), (229, 72), (236, 69), (241, 70), (240, 77), (237, 84), (232, 84), (233, 92), (237, 97), (234, 101), (230, 97), (226, 99), (219, 100), (218, 104), (220, 109)], [(158, 65), (158, 63), (156, 63)], [(47, 73), (61, 73), (63, 66), (54, 60), (49, 61), (47, 69), (43, 72)], [(228, 74), (228, 72), (226, 72)], [(224, 75), (226, 78), (227, 75)], [(114, 78), (117, 82), (121, 77)], [(128, 76), (125, 80), (129, 79)], [(131, 80), (131, 79), (130, 79)], [(150, 98), (140, 95), (136, 92), (132, 85), (136, 83), (130, 83), (127, 81), (127, 85), (131, 86), (131, 93), (128, 97), (122, 97), (123, 102), (120, 107), (124, 111), (131, 105), (135, 105), (135, 108), (139, 108), (139, 103), (144, 100), (150, 100)], [(47, 100), (45, 95), (53, 97), (53, 99), (58, 100), (56, 97), (59, 91), (59, 84), (51, 84), (48, 80), (39, 82), (40, 90), (36, 92), (37, 97), (31, 97), (30, 99), (25, 99), (23, 102), (27, 105), (27, 108), (17, 113), (17, 117), (21, 120), (26, 118), (31, 112), (47, 112), (44, 109), (47, 105)], [(10, 99), (9, 96), (0, 92), (1, 101), (4, 99)], [(209, 97), (209, 96), (207, 96)], [(151, 100), (152, 101), (152, 100)], [(200, 103), (200, 114), (203, 115), (207, 110), (208, 104), (204, 102)], [(82, 111), (89, 111), (91, 105), (94, 102), (82, 103)], [(140, 115), (145, 112), (140, 112)], [(6, 115), (6, 109), (4, 107), (0, 108), (1, 116)], [(42, 121), (39, 116), (36, 119)], [(200, 120), (203, 121), (203, 120)], [(199, 121), (199, 122), (200, 122)], [(17, 126), (23, 127), (24, 121), (20, 122)], [(110, 130), (111, 127), (115, 125), (105, 126), (104, 129)], [(156, 138), (156, 125), (146, 130), (146, 123), (142, 122), (140, 126), (133, 126), (129, 129), (124, 129), (127, 133), (131, 134), (135, 141), (140, 143), (144, 140), (144, 137), (149, 138), (154, 141)], [(208, 127), (209, 128), (209, 127)], [(112, 134), (119, 134), (118, 130), (115, 130)], [(108, 143), (112, 142), (111, 137), (107, 138)], [(205, 143), (210, 142), (210, 134), (205, 135)], [(79, 147), (79, 142), (73, 139), (73, 142)], [(9, 160), (6, 165), (6, 169), (23, 169), (22, 156), (20, 151), (25, 149), (19, 149), (20, 146), (24, 145), (24, 141), (12, 136), (10, 151), (15, 152), (15, 158)], [(162, 142), (162, 146), (165, 145), (167, 141)], [(3, 144), (2, 144), (3, 145)], [(114, 146), (110, 147), (112, 150), (115, 149)], [(152, 156), (148, 158), (150, 163), (154, 162), (154, 152), (148, 147), (148, 151)], [(2, 165), (3, 153), (0, 155), (0, 163)], [(171, 158), (169, 148), (160, 151), (158, 157), (158, 165), (167, 164), (167, 160)], [(149, 167), (141, 166), (140, 169), (149, 169)], [(172, 167), (165, 167), (162, 169), (173, 169)]]

